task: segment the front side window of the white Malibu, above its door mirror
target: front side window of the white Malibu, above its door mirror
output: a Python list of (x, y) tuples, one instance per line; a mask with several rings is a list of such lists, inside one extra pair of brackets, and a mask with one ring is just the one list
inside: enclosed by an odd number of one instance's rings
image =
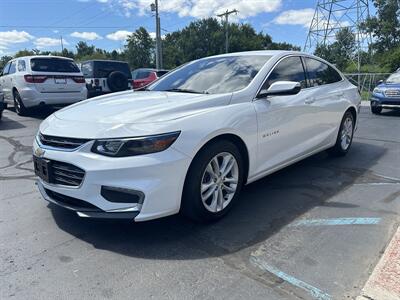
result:
[(288, 57), (279, 62), (268, 76), (262, 90), (267, 90), (276, 81), (296, 81), (300, 82), (302, 88), (307, 87), (303, 63), (299, 56)]

